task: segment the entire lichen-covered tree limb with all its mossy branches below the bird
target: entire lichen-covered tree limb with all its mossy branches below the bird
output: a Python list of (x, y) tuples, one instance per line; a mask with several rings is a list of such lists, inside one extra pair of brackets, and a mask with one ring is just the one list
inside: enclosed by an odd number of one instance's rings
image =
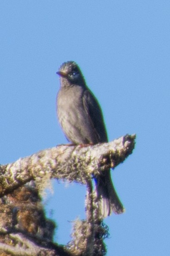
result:
[[(89, 146), (61, 145), (0, 166), (0, 256), (103, 256), (108, 229), (98, 217), (91, 174), (124, 161), (135, 135)], [(86, 219), (77, 220), (67, 246), (53, 243), (55, 224), (45, 218), (39, 191), (49, 179), (87, 186)]]

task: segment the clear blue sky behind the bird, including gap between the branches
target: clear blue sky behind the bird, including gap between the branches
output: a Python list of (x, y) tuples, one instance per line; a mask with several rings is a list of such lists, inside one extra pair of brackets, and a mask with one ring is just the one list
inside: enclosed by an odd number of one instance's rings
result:
[[(113, 140), (137, 134), (112, 172), (126, 207), (105, 220), (108, 256), (170, 254), (170, 1), (0, 0), (0, 163), (66, 143), (55, 115), (59, 66), (74, 60)], [(84, 218), (85, 187), (54, 182), (55, 241)]]

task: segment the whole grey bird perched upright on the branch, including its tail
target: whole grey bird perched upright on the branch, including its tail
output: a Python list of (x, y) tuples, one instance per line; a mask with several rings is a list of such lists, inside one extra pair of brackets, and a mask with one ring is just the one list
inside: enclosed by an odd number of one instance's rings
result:
[[(100, 105), (87, 87), (79, 66), (73, 61), (65, 62), (57, 74), (61, 79), (56, 99), (57, 115), (68, 141), (75, 145), (108, 142)], [(112, 211), (124, 212), (110, 170), (95, 177), (95, 182), (101, 217), (109, 216)]]

